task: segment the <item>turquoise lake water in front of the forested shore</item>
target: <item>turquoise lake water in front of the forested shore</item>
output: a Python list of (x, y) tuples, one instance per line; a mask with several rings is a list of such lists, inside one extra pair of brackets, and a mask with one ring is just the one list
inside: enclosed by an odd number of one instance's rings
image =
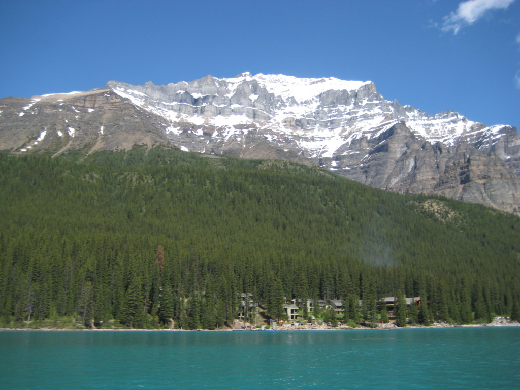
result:
[(520, 327), (1, 331), (0, 388), (520, 388)]

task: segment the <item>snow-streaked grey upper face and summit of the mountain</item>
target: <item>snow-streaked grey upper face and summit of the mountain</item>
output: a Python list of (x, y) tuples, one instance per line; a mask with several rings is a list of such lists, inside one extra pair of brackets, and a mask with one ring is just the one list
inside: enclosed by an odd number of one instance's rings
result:
[(379, 137), (400, 121), (419, 139), (447, 147), (482, 137), (498, 138), (503, 127), (487, 127), (453, 111), (430, 115), (385, 100), (370, 81), (335, 77), (303, 79), (245, 72), (166, 86), (118, 82), (107, 86), (141, 109), (161, 116), (167, 121), (165, 132), (172, 136), (196, 126), (199, 131), (188, 134), (201, 140), (228, 141), (247, 135), (245, 129), (257, 129), (274, 144), (291, 139), (313, 159), (333, 158), (340, 149), (338, 153), (344, 155), (342, 146)]

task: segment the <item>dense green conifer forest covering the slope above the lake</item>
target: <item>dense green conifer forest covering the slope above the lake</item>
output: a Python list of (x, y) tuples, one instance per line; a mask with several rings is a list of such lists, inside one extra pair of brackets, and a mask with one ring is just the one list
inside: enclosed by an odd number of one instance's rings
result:
[(243, 292), (274, 318), (284, 297), (343, 298), (345, 321), (384, 318), (383, 296), (420, 296), (414, 323), (518, 311), (520, 218), (317, 167), (137, 146), (1, 153), (0, 202), (0, 327), (215, 329)]

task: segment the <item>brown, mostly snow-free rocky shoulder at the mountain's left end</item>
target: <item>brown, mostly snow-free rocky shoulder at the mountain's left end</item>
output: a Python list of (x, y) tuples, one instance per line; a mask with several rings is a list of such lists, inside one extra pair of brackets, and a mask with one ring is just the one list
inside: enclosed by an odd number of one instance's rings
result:
[(88, 153), (167, 142), (159, 118), (111, 89), (5, 98), (0, 111), (0, 150), (12, 153)]

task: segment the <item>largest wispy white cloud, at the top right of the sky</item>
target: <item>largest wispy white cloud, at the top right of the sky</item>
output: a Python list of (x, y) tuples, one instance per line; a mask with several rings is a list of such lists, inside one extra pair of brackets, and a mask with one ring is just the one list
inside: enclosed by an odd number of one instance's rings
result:
[[(467, 0), (459, 4), (457, 11), (444, 17), (441, 30), (457, 34), (463, 27), (475, 23), (484, 14), (495, 8), (508, 8), (515, 0)], [(517, 36), (518, 40), (518, 36)]]

